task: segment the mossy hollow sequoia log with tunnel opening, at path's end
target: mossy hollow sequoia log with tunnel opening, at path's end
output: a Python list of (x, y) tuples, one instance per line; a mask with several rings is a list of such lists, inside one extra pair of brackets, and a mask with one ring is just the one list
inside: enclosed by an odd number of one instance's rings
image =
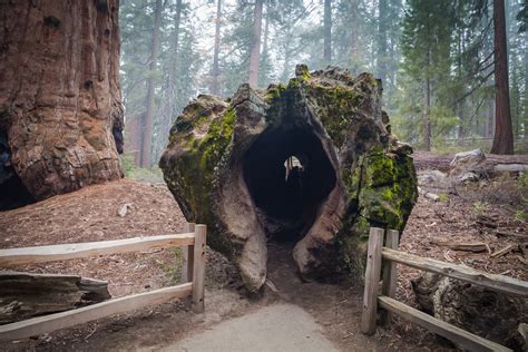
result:
[(361, 266), (370, 225), (404, 227), (412, 150), (390, 134), (380, 95), (369, 74), (297, 66), (287, 87), (243, 85), (229, 102), (199, 96), (185, 108), (160, 167), (250, 290), (265, 281), (272, 237), (296, 243), (302, 274), (329, 276)]

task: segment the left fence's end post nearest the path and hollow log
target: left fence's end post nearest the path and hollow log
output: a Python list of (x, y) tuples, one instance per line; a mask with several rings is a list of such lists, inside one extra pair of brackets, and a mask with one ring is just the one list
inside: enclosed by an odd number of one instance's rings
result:
[(196, 313), (204, 312), (206, 233), (207, 226), (196, 225), (193, 265), (193, 307)]

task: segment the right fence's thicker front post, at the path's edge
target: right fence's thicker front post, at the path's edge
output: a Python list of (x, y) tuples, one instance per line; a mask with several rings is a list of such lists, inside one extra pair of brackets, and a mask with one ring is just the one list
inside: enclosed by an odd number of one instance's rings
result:
[(363, 314), (361, 332), (372, 335), (375, 332), (378, 309), (378, 287), (381, 272), (381, 247), (383, 246), (383, 228), (371, 227), (366, 255), (365, 291), (363, 294)]

